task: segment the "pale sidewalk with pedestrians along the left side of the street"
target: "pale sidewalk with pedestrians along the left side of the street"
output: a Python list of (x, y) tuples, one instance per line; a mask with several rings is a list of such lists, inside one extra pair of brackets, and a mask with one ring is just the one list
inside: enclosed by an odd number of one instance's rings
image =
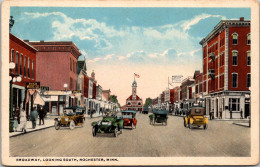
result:
[[(56, 118), (56, 117), (58, 117), (58, 116), (47, 115), (46, 118), (44, 118), (44, 125), (39, 125), (39, 118), (38, 118), (37, 122), (36, 122), (36, 128), (35, 129), (32, 129), (32, 122), (27, 121), (26, 133), (30, 133), (30, 132), (54, 127), (54, 118)], [(18, 135), (22, 135), (22, 134), (26, 134), (26, 133), (22, 132), (19, 125), (18, 125), (17, 132), (10, 132), (9, 137), (14, 137), (14, 136), (18, 136)]]

